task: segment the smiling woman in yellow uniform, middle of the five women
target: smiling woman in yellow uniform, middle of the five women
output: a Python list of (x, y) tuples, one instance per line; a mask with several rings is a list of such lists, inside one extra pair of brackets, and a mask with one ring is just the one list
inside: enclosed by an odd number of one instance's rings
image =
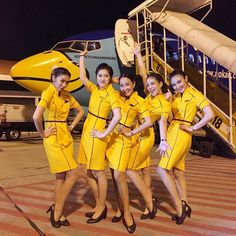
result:
[[(129, 193), (125, 172), (131, 155), (132, 136), (150, 127), (152, 123), (150, 114), (144, 106), (144, 99), (141, 98), (137, 92), (134, 92), (135, 82), (133, 78), (130, 75), (122, 75), (119, 79), (119, 84), (121, 120), (112, 132), (106, 155), (109, 161), (109, 167), (112, 170), (114, 190), (119, 203), (119, 208), (122, 209), (123, 212), (123, 224), (129, 233), (133, 233), (136, 225), (129, 210)], [(138, 116), (142, 117), (143, 123), (131, 130), (132, 125), (137, 121)], [(156, 207), (153, 205), (152, 197), (147, 196), (145, 185), (142, 182), (141, 177), (138, 177), (135, 179), (135, 183), (138, 185), (139, 189), (142, 189), (143, 197), (148, 205), (148, 209), (151, 211), (152, 215), (155, 216)], [(119, 201), (119, 199), (121, 201)], [(119, 220), (121, 219), (121, 217), (117, 218), (119, 218)], [(114, 221), (113, 217), (113, 222), (117, 221)]]

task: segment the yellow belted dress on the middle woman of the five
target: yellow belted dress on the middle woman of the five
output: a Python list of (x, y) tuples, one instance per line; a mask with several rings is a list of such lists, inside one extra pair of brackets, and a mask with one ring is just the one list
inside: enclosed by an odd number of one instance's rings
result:
[(126, 137), (122, 133), (119, 133), (119, 126), (131, 128), (138, 116), (141, 116), (143, 119), (150, 116), (150, 114), (144, 105), (144, 99), (137, 92), (134, 92), (128, 99), (120, 96), (120, 104), (121, 120), (112, 132), (106, 155), (110, 168), (118, 171), (126, 171), (134, 138)]

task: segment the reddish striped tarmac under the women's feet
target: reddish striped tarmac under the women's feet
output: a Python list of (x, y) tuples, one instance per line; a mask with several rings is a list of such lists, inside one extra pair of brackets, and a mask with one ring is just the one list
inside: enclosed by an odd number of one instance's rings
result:
[[(74, 154), (79, 147), (74, 137)], [(134, 235), (236, 235), (236, 160), (213, 155), (202, 158), (189, 154), (186, 179), (189, 203), (193, 213), (183, 225), (176, 225), (172, 201), (156, 174), (158, 153), (153, 148), (153, 194), (158, 199), (158, 213), (153, 220), (141, 220), (144, 202), (129, 182), (130, 205), (137, 229)], [(47, 208), (52, 203), (54, 176), (50, 174), (42, 139), (37, 133), (25, 133), (15, 142), (0, 139), (0, 236), (14, 235), (129, 235), (122, 222), (112, 223), (116, 201), (109, 182), (106, 205), (108, 215), (97, 224), (87, 224), (84, 214), (94, 205), (83, 179), (78, 179), (65, 205), (69, 227), (55, 229), (50, 225)]]

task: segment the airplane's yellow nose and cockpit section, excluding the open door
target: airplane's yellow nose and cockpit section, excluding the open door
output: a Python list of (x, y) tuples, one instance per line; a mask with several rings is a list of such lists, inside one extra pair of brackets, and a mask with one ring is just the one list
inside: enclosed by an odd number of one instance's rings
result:
[(119, 60), (114, 45), (114, 31), (102, 30), (81, 33), (56, 43), (50, 50), (19, 61), (11, 69), (11, 76), (21, 86), (36, 94), (46, 89), (50, 83), (52, 68), (66, 67), (71, 72), (67, 90), (87, 106), (89, 93), (85, 91), (79, 79), (79, 54), (87, 50), (85, 64), (88, 77), (95, 82), (95, 69), (100, 63), (107, 63), (113, 68), (114, 76), (120, 75)]

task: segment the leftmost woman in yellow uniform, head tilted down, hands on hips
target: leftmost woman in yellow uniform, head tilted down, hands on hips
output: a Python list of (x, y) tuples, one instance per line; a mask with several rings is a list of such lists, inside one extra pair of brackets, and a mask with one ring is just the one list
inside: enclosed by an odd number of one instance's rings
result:
[[(70, 72), (63, 67), (52, 71), (52, 84), (43, 91), (33, 115), (35, 126), (43, 138), (51, 173), (56, 174), (55, 204), (48, 209), (51, 213), (51, 224), (56, 228), (69, 225), (62, 211), (65, 200), (79, 175), (77, 163), (73, 159), (73, 138), (70, 132), (80, 121), (84, 111), (73, 96), (65, 90), (70, 76)], [(66, 120), (70, 109), (75, 109), (78, 113), (74, 121), (67, 126)], [(42, 125), (43, 113), (45, 129)]]

